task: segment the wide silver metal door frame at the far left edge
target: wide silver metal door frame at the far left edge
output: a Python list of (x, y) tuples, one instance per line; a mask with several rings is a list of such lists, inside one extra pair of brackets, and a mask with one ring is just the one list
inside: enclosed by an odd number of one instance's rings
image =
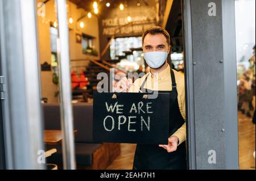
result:
[(45, 169), (35, 1), (0, 1), (6, 169)]

